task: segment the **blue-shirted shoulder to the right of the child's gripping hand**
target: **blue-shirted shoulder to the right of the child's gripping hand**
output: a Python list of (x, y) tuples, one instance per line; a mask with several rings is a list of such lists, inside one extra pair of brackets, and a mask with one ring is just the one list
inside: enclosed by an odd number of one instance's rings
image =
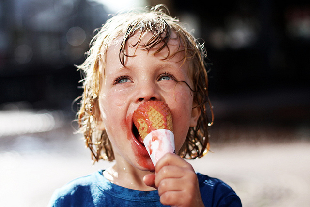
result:
[(241, 200), (233, 189), (224, 181), (196, 173), (200, 193), (206, 206), (241, 207)]

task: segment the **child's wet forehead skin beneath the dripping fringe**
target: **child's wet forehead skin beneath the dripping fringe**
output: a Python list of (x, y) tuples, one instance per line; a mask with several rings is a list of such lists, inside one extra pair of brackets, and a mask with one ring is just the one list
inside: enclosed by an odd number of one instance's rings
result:
[[(100, 67), (101, 72), (103, 73), (103, 76), (105, 77), (107, 74), (110, 74), (116, 70), (109, 70), (108, 68), (112, 67), (117, 68), (119, 70), (122, 70), (124, 68), (132, 68), (133, 63), (140, 63), (141, 58), (146, 58), (146, 56), (141, 56), (141, 51), (147, 53), (148, 55), (154, 55), (155, 58), (160, 59), (163, 62), (154, 62), (154, 64), (158, 64), (157, 68), (167, 67), (168, 65), (173, 65), (171, 68), (183, 68), (184, 72), (187, 73), (188, 77), (191, 77), (191, 67), (190, 61), (187, 60), (185, 55), (185, 47), (183, 46), (182, 42), (177, 38), (177, 35), (171, 35), (172, 38), (169, 39), (167, 42), (167, 45), (160, 51), (155, 52), (157, 48), (160, 48), (163, 44), (163, 42), (159, 42), (154, 47), (148, 49), (144, 45), (151, 39), (152, 34), (146, 33), (141, 38), (141, 33), (135, 33), (133, 36), (131, 36), (127, 41), (124, 49), (124, 62), (122, 63), (122, 44), (123, 42), (123, 36), (118, 36), (113, 40), (113, 44), (110, 44), (110, 46), (107, 48), (107, 52), (105, 54), (105, 58), (103, 58), (101, 61), (101, 64), (104, 64), (104, 67)], [(137, 52), (137, 51), (140, 52)], [(144, 54), (145, 54), (144, 53)], [(134, 62), (130, 62), (130, 59), (133, 58)], [(138, 62), (136, 62), (138, 61)], [(153, 62), (152, 62), (153, 63)], [(151, 64), (151, 63), (150, 63)]]

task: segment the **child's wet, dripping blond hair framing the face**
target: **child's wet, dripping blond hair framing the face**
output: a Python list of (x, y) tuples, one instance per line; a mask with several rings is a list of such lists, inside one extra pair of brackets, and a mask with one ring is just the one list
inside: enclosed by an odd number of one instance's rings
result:
[[(96, 129), (95, 115), (99, 110), (100, 77), (105, 76), (107, 49), (110, 45), (115, 44), (116, 39), (121, 39), (119, 58), (124, 65), (124, 58), (127, 56), (125, 54), (126, 44), (128, 45), (128, 40), (137, 33), (140, 35), (139, 41), (134, 45), (130, 44), (129, 47), (140, 44), (145, 50), (154, 49), (155, 54), (168, 48), (169, 40), (177, 38), (178, 52), (184, 53), (183, 63), (185, 61), (190, 63), (189, 76), (193, 88), (190, 88), (189, 84), (184, 81), (176, 84), (187, 84), (192, 92), (193, 100), (197, 104), (195, 107), (201, 111), (197, 126), (189, 128), (185, 143), (178, 154), (186, 159), (202, 157), (208, 151), (208, 128), (213, 123), (212, 105), (208, 97), (207, 65), (204, 61), (206, 52), (203, 44), (200, 44), (177, 18), (170, 16), (165, 6), (157, 5), (118, 13), (109, 18), (91, 41), (90, 50), (86, 53), (86, 60), (77, 66), (83, 74), (81, 82), (83, 82), (84, 89), (78, 111), (78, 132), (84, 134), (85, 143), (92, 152), (93, 161), (114, 160), (113, 149), (106, 131)], [(146, 43), (143, 41), (142, 44), (140, 40), (149, 33), (152, 34), (148, 35), (151, 38)], [(173, 57), (173, 55), (175, 54), (168, 54), (164, 59)], [(211, 117), (208, 117), (208, 114), (211, 114)]]

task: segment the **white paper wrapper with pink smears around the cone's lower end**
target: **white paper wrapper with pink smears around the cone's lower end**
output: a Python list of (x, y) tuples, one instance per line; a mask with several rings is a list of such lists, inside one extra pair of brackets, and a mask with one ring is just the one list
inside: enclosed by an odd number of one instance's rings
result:
[(167, 152), (175, 153), (174, 134), (167, 129), (157, 129), (146, 135), (143, 140), (154, 166)]

